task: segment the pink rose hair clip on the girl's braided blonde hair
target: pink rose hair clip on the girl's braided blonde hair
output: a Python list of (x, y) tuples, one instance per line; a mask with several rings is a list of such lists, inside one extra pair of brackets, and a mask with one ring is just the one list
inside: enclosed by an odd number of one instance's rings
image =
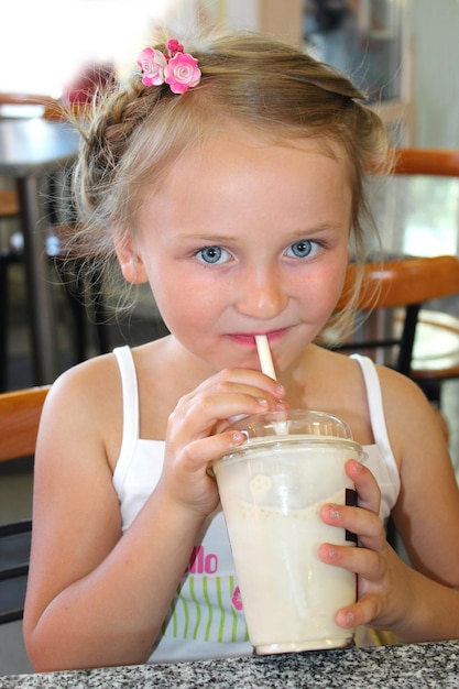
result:
[(175, 39), (167, 41), (167, 51), (162, 53), (153, 47), (143, 48), (138, 59), (142, 69), (142, 84), (168, 84), (173, 94), (185, 94), (200, 81), (198, 61), (189, 53), (184, 53), (184, 46)]

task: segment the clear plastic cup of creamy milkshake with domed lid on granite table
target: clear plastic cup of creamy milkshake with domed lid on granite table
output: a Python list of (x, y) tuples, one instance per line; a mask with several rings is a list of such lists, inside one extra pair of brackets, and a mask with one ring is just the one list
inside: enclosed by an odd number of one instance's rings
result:
[(356, 575), (321, 562), (318, 547), (354, 547), (354, 534), (328, 526), (327, 502), (356, 504), (345, 473), (362, 447), (340, 418), (288, 411), (232, 425), (247, 442), (212, 462), (234, 558), (250, 642), (272, 654), (352, 645), (335, 622), (356, 601)]

